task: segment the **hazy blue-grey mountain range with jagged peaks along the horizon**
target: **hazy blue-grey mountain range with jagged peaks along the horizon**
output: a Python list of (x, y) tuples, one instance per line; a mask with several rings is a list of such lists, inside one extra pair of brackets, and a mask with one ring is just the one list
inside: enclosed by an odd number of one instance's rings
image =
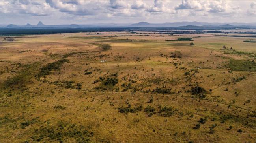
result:
[(207, 23), (207, 22), (167, 22), (148, 23), (138, 22), (134, 24), (86, 24), (86, 25), (45, 25), (38, 22), (37, 25), (27, 24), (24, 26), (9, 24), (7, 28), (95, 28), (95, 27), (131, 27), (131, 28), (168, 28), (172, 30), (220, 30), (220, 29), (256, 29), (256, 23)]

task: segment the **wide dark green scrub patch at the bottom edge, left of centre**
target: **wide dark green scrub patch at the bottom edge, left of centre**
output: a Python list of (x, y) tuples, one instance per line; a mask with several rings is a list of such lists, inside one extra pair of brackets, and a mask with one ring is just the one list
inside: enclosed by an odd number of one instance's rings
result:
[(88, 128), (67, 122), (58, 122), (57, 125), (46, 125), (34, 130), (31, 139), (37, 142), (64, 143), (75, 140), (77, 143), (90, 143), (90, 137), (94, 135)]

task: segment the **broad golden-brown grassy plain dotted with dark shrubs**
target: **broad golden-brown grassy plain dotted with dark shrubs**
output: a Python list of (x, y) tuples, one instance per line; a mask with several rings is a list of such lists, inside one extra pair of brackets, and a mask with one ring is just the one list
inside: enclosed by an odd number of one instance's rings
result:
[(0, 143), (255, 143), (256, 43), (245, 40), (0, 37)]

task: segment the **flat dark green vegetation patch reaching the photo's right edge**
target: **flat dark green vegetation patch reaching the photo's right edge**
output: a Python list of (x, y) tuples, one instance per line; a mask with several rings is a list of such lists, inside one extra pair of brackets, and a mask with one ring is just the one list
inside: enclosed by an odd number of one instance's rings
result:
[(256, 63), (250, 60), (230, 59), (227, 67), (233, 71), (256, 71)]

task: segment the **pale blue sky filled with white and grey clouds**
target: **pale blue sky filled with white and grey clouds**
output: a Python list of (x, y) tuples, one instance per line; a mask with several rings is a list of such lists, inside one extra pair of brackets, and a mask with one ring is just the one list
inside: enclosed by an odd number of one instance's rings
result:
[(0, 24), (256, 22), (256, 0), (0, 0)]

